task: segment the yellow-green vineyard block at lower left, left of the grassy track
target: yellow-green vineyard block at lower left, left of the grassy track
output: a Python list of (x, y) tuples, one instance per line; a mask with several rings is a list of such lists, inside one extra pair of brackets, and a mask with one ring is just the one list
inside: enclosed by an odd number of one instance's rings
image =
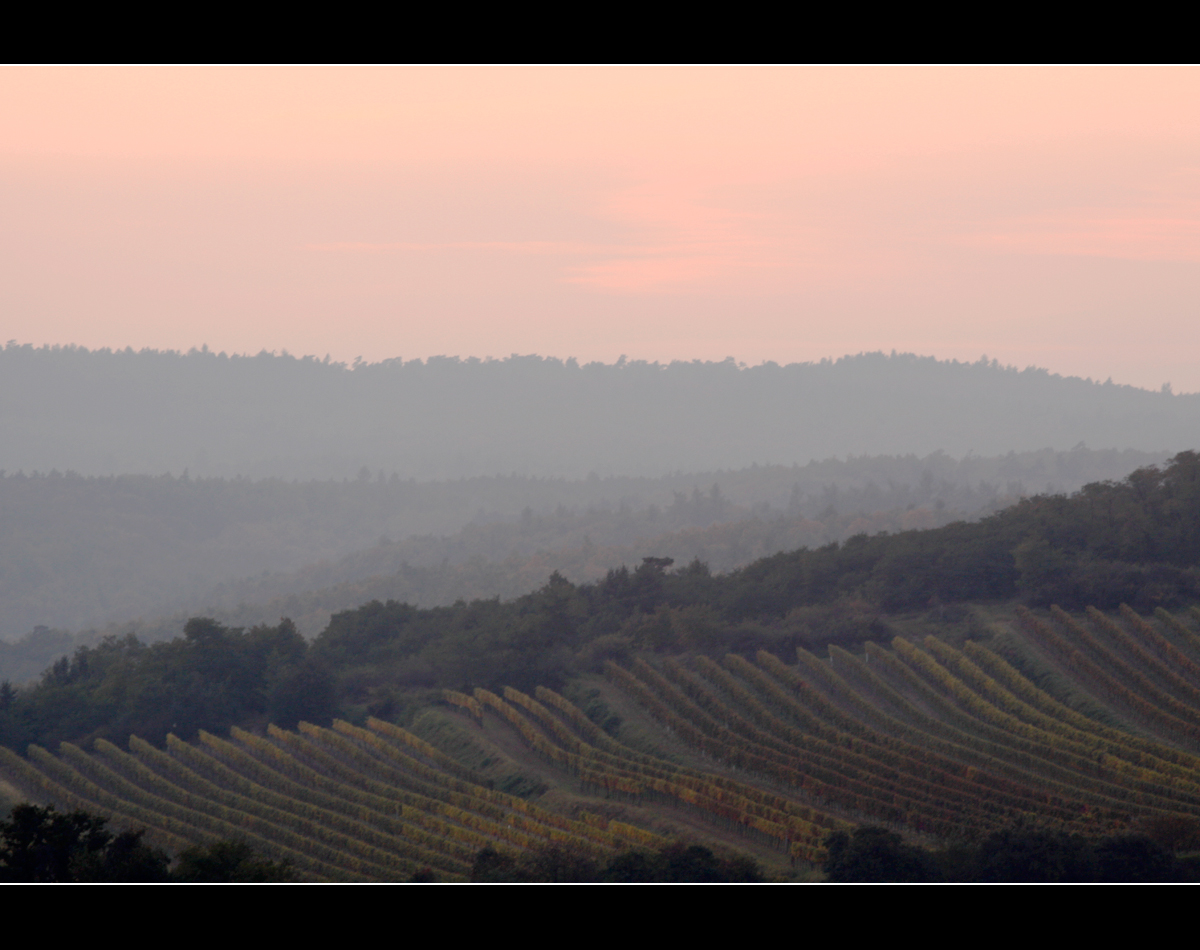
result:
[(197, 746), (173, 736), (167, 750), (132, 738), (130, 748), (98, 740), (94, 753), (64, 744), (54, 756), (30, 746), (28, 759), (0, 750), (0, 768), (38, 799), (146, 828), (174, 849), (242, 840), (318, 880), (402, 880), (419, 871), (462, 880), (487, 846), (559, 844), (600, 856), (666, 843), (472, 782), (444, 753), (377, 720), (366, 729), (205, 733)]

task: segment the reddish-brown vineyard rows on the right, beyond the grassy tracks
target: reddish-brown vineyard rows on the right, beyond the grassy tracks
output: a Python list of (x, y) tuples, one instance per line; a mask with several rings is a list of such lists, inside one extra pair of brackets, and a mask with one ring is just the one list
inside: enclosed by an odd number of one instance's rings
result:
[[(814, 807), (937, 837), (1016, 820), (1102, 834), (1200, 817), (1200, 638), (1160, 611), (1018, 611), (1006, 651), (1086, 696), (1087, 716), (976, 642), (866, 644), (796, 666), (760, 653), (610, 663), (614, 685), (703, 754)], [(1112, 724), (1115, 723), (1115, 724)]]

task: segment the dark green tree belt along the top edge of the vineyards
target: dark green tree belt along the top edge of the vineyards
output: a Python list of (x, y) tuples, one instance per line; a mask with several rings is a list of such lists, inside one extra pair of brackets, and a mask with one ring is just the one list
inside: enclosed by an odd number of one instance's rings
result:
[[(1142, 611), (1200, 600), (1200, 456), (1183, 452), (1070, 497), (1025, 499), (976, 523), (859, 535), (725, 575), (648, 557), (596, 583), (556, 573), (511, 601), (428, 609), (372, 601), (335, 614), (311, 644), (290, 621), (242, 632), (193, 620), (182, 639), (150, 647), (110, 638), (60, 661), (35, 687), (6, 686), (0, 722), (17, 747), (131, 729), (186, 735), (253, 715), (288, 722), (306, 715), (278, 705), (296, 677), (329, 715), (349, 707), (379, 715), (410, 689), (554, 686), (646, 650), (853, 645), (880, 638), (895, 613), (1013, 599)], [(155, 710), (152, 721), (143, 708)]]

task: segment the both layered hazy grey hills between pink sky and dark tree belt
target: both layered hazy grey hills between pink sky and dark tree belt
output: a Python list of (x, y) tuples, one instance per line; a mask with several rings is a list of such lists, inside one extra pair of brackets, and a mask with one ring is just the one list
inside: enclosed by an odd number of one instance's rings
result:
[[(288, 615), (314, 637), (373, 599), (514, 597), (554, 571), (594, 582), (643, 557), (730, 571), (1118, 480), (1200, 431), (1200, 397), (913, 356), (348, 368), (10, 347), (2, 360), (10, 397), (37, 378), (58, 401), (0, 402), (13, 465), (0, 477), (0, 635), (28, 641), (4, 650), (2, 673), (18, 679), (114, 631), (178, 636), (193, 614)], [(984, 455), (1028, 419), (1040, 432), (1024, 438), (1048, 445)], [(305, 453), (320, 443), (340, 479), (311, 477), (318, 456)], [(900, 445), (926, 453), (888, 453)], [(14, 464), (40, 455), (62, 469)], [(203, 474), (205, 458), (227, 474)], [(680, 458), (730, 467), (672, 473)], [(413, 475), (430, 459), (448, 477)], [(521, 470), (499, 474), (506, 462)]]

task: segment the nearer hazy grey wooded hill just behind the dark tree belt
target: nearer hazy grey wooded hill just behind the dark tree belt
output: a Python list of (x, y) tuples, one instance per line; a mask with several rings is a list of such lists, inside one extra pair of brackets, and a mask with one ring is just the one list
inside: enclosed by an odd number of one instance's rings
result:
[(227, 617), (241, 605), (275, 621), (278, 599), (338, 588), (319, 609), (288, 607), (314, 635), (320, 612), (361, 602), (346, 597), (367, 581), (370, 596), (434, 606), (524, 594), (553, 570), (594, 581), (648, 554), (728, 570), (863, 530), (979, 517), (1162, 461), (1079, 449), (574, 481), (10, 474), (0, 477), (0, 639), (186, 611)]

